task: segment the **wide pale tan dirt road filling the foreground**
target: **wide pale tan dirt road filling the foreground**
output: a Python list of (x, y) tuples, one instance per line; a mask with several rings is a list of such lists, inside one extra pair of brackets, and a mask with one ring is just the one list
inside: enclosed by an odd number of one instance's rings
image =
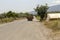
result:
[(0, 25), (0, 40), (52, 40), (50, 30), (34, 21), (17, 20)]

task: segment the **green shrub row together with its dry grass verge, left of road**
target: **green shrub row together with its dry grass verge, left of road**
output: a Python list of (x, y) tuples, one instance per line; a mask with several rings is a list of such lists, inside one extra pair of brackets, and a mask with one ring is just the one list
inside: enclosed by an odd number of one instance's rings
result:
[[(14, 20), (19, 20), (19, 19), (24, 19), (26, 18), (28, 15), (28, 13), (16, 13), (16, 12), (12, 12), (12, 11), (8, 11), (6, 13), (2, 13), (0, 14), (0, 23), (7, 23), (7, 22), (11, 22)], [(32, 16), (31, 16), (32, 18)], [(30, 19), (31, 19), (30, 18)]]

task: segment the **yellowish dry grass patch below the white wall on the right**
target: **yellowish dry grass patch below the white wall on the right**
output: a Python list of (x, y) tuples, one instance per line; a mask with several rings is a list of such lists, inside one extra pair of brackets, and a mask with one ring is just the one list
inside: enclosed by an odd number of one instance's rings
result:
[(51, 20), (44, 22), (47, 28), (52, 29), (53, 31), (60, 31), (60, 20)]

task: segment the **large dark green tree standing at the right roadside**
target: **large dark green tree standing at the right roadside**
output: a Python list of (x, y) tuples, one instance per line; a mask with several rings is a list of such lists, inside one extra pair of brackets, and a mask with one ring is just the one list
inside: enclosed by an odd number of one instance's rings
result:
[(37, 14), (40, 16), (40, 21), (42, 21), (44, 18), (47, 18), (47, 10), (48, 10), (48, 6), (46, 5), (41, 5), (41, 6), (37, 6), (35, 8), (35, 11), (37, 12)]

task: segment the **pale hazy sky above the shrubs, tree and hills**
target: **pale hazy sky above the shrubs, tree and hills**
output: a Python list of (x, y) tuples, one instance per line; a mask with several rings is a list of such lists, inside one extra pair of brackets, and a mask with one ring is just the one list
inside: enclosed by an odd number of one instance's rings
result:
[(0, 13), (7, 11), (29, 12), (38, 4), (47, 3), (49, 6), (60, 4), (60, 0), (0, 0)]

